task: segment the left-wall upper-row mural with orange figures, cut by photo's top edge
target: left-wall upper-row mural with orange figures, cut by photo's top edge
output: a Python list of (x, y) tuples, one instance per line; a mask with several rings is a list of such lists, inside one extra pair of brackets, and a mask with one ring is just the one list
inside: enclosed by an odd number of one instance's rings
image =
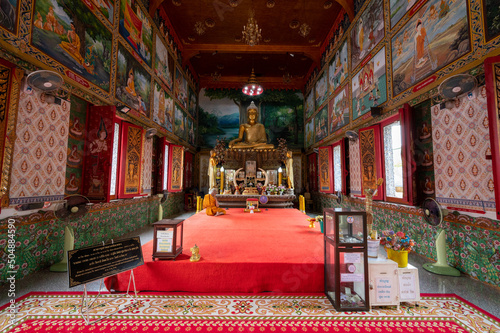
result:
[(151, 67), (153, 29), (137, 1), (120, 0), (120, 35), (139, 57)]

